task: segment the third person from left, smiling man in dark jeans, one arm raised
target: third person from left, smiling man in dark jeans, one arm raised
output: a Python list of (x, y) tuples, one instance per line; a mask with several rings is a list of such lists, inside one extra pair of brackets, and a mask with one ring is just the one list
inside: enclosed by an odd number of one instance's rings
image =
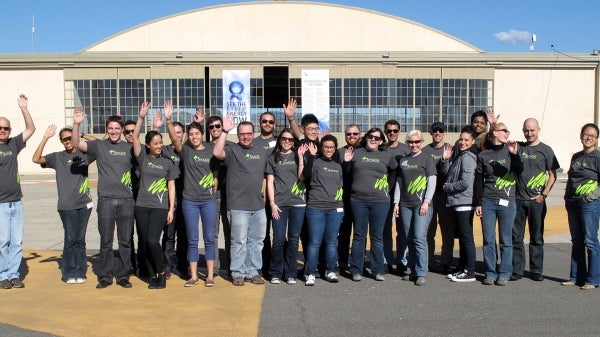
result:
[[(73, 114), (71, 142), (81, 151), (96, 157), (98, 165), (98, 232), (100, 233), (100, 258), (97, 268), (96, 288), (106, 288), (113, 277), (123, 288), (131, 288), (129, 270), (131, 267), (131, 231), (133, 230), (133, 191), (131, 189), (131, 169), (133, 157), (131, 144), (121, 139), (123, 121), (119, 116), (106, 120), (107, 138), (104, 140), (80, 141), (79, 125), (86, 116), (83, 108)], [(113, 238), (115, 226), (119, 242), (119, 259), (116, 274), (113, 270)]]

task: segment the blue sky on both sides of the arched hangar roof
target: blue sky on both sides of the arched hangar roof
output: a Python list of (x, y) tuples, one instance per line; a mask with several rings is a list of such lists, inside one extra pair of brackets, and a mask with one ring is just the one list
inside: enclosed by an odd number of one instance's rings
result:
[[(21, 0), (0, 5), (0, 53), (77, 52), (130, 27), (172, 14), (245, 1)], [(600, 49), (597, 0), (347, 0), (430, 26), (487, 52), (591, 53)], [(32, 43), (32, 16), (35, 34)]]

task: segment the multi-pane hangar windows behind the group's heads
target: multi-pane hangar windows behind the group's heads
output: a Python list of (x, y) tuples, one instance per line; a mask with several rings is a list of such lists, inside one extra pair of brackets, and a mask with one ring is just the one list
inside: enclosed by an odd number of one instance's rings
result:
[[(204, 79), (104, 79), (65, 82), (67, 121), (75, 107), (83, 106), (88, 115), (84, 131), (102, 134), (104, 121), (110, 115), (136, 120), (144, 101), (152, 101), (155, 109), (165, 100), (174, 105), (173, 119), (188, 124), (196, 107), (203, 106), (207, 115), (222, 115), (223, 80), (212, 78), (205, 90)], [(263, 79), (252, 78), (251, 121), (258, 122), (265, 110), (275, 114), (278, 130), (286, 125), (282, 107), (263, 106)], [(205, 97), (205, 92), (209, 97)], [(289, 79), (291, 97), (298, 100), (297, 119), (302, 116), (300, 78)], [(329, 80), (330, 128), (343, 132), (348, 124), (362, 130), (383, 127), (390, 119), (400, 122), (403, 132), (412, 129), (428, 131), (435, 121), (442, 121), (449, 132), (459, 132), (469, 123), (470, 115), (493, 105), (493, 81), (486, 79), (397, 79), (397, 78), (331, 78)], [(146, 127), (150, 128), (153, 113)], [(164, 127), (163, 127), (164, 128)], [(161, 131), (165, 131), (164, 129)]]

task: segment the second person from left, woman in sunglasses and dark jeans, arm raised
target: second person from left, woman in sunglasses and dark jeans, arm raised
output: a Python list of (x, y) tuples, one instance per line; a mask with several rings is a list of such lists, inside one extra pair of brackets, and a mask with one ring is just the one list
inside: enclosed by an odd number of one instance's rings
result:
[(86, 281), (85, 233), (94, 206), (90, 193), (88, 165), (95, 158), (73, 146), (72, 129), (68, 127), (62, 128), (58, 133), (65, 150), (42, 156), (48, 139), (55, 134), (56, 125), (51, 124), (33, 154), (33, 162), (44, 168), (56, 170), (58, 214), (65, 231), (60, 264), (62, 280), (67, 284), (80, 284)]

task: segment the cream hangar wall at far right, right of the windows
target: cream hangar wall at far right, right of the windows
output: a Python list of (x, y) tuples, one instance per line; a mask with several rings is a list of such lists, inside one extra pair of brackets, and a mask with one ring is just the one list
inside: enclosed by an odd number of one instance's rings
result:
[(541, 125), (540, 139), (550, 145), (561, 168), (568, 170), (571, 154), (581, 150), (580, 128), (594, 121), (594, 70), (499, 69), (494, 81), (494, 109), (523, 140), (525, 118)]

